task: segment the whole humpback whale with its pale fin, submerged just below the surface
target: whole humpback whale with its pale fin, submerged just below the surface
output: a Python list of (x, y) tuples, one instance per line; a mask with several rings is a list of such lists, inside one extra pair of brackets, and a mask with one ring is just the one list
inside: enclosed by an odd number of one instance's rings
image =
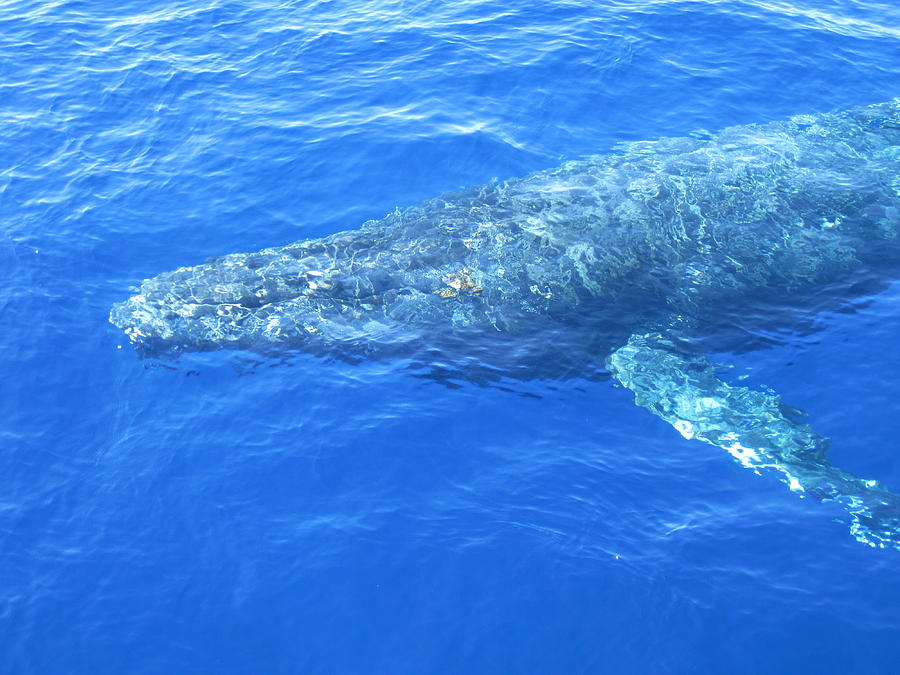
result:
[(210, 259), (145, 280), (110, 321), (149, 356), (300, 350), (512, 378), (593, 364), (685, 438), (839, 503), (859, 541), (900, 548), (900, 496), (833, 466), (796, 409), (707, 356), (885, 286), (898, 233), (895, 99), (623, 144)]

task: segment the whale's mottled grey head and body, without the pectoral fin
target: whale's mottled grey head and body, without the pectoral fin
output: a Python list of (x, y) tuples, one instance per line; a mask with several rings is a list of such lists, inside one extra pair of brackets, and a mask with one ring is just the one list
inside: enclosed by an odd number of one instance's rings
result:
[(150, 354), (404, 352), (554, 325), (612, 347), (667, 316), (702, 322), (852, 279), (898, 248), (898, 192), (894, 100), (632, 143), (226, 255), (144, 281), (110, 320)]

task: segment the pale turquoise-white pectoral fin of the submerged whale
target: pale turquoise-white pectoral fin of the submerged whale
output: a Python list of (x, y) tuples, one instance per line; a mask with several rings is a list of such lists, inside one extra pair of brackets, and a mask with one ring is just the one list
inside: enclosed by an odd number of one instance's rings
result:
[(757, 473), (774, 470), (794, 492), (840, 503), (857, 540), (900, 548), (900, 495), (829, 464), (828, 439), (792, 419), (797, 411), (778, 395), (723, 382), (705, 357), (660, 334), (632, 336), (607, 368), (635, 403), (685, 438), (723, 448)]

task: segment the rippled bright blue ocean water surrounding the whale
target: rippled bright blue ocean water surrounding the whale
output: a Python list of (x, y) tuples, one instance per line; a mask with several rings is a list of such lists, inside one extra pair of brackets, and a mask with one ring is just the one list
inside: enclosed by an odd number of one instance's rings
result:
[[(0, 672), (898, 672), (900, 552), (609, 381), (107, 322), (210, 256), (897, 95), (892, 2), (3, 3)], [(895, 489), (898, 310), (731, 357)]]

